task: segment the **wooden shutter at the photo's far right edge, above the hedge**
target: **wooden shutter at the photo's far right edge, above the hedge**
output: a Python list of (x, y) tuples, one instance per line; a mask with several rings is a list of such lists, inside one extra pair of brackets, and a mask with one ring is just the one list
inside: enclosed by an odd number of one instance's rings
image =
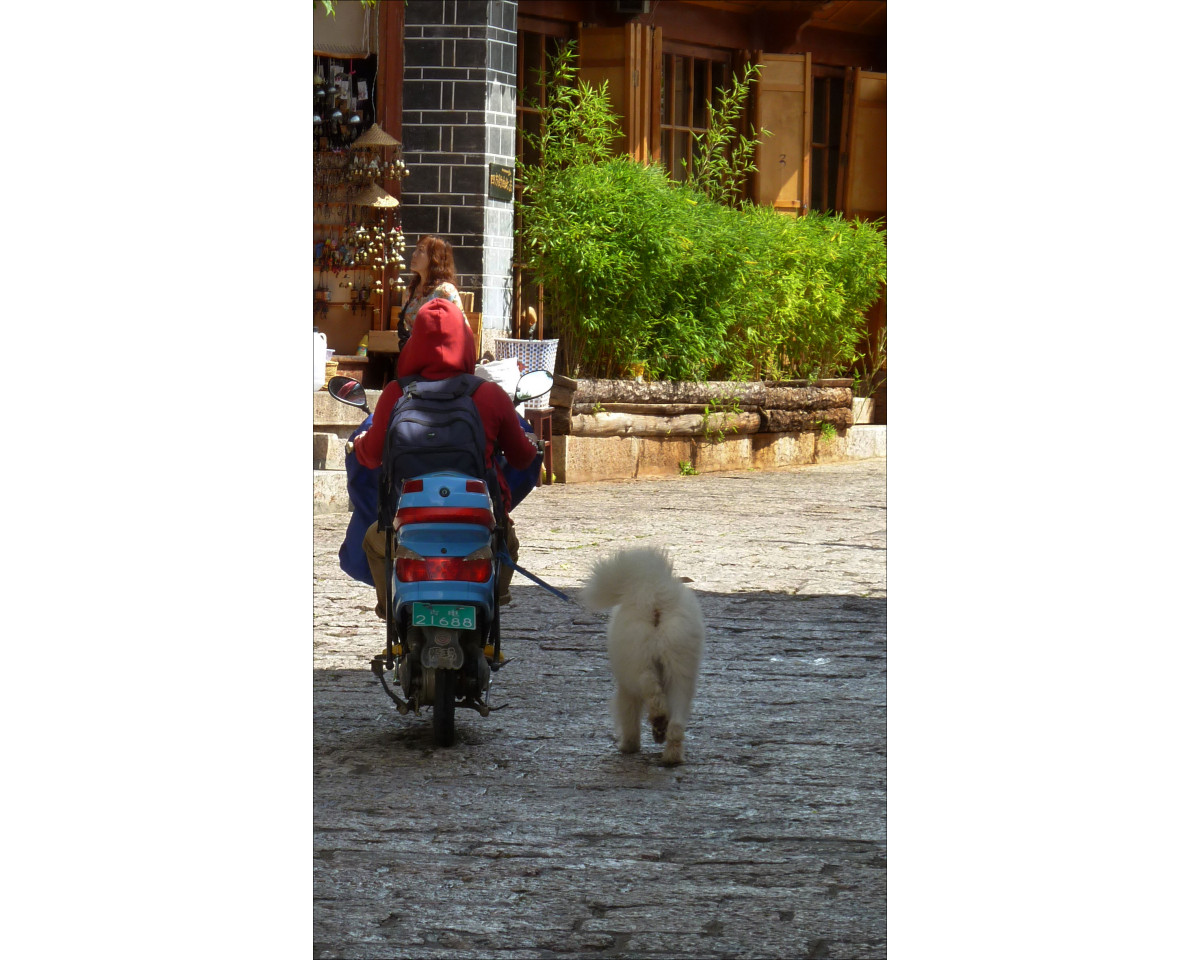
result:
[(888, 212), (888, 77), (856, 68), (846, 125), (846, 220)]

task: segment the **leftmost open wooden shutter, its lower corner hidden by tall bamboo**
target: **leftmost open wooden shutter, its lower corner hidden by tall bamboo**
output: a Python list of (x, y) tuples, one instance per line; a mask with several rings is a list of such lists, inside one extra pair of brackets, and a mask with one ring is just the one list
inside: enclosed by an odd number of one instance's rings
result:
[(580, 31), (580, 79), (593, 86), (608, 82), (608, 101), (620, 114), (622, 136), (614, 152), (643, 163), (661, 152), (659, 90), (662, 85), (662, 35), (642, 23), (584, 26)]

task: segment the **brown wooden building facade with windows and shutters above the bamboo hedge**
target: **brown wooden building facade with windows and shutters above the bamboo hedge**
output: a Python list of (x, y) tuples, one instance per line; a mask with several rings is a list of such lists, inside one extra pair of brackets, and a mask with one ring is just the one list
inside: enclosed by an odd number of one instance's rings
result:
[[(803, 214), (887, 214), (886, 0), (520, 0), (518, 82), (574, 38), (580, 76), (607, 80), (617, 146), (682, 178), (704, 103), (746, 62), (762, 66), (754, 122), (757, 203)], [(523, 122), (529, 122), (522, 118)]]

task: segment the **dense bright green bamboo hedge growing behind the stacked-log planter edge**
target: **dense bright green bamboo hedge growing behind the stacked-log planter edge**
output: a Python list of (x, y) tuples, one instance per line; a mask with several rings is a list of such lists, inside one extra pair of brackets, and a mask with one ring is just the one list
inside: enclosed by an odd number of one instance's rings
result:
[(541, 162), (518, 164), (526, 262), (545, 287), (564, 370), (625, 377), (642, 366), (665, 380), (846, 373), (862, 313), (887, 280), (883, 230), (714, 199), (731, 196), (736, 172), (715, 160), (715, 140), (694, 180), (713, 196), (611, 156), (617, 118), (605, 89), (574, 86), (576, 73), (568, 46), (529, 138)]

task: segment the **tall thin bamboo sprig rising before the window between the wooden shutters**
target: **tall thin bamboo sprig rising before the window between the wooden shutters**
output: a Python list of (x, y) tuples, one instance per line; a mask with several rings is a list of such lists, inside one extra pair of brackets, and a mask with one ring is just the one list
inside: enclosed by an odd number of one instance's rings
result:
[(710, 200), (732, 204), (745, 186), (746, 178), (758, 168), (754, 164), (757, 136), (770, 136), (770, 131), (755, 131), (750, 136), (738, 133), (738, 118), (750, 96), (750, 84), (758, 79), (761, 65), (746, 64), (740, 77), (733, 77), (733, 88), (713, 107), (706, 102), (708, 128), (692, 133), (692, 163), (686, 182)]

